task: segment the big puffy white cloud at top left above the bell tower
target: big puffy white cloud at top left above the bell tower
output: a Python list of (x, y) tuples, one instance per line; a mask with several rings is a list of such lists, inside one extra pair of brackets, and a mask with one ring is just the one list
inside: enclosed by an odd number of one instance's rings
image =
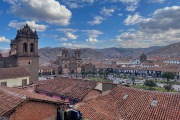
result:
[(25, 19), (68, 25), (71, 11), (56, 0), (4, 0), (11, 4), (10, 11)]

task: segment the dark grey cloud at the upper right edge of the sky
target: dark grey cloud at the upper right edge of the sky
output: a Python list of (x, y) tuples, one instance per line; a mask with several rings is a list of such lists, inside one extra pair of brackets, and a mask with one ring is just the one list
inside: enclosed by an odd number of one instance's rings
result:
[[(147, 18), (148, 19), (148, 18)], [(148, 21), (140, 23), (142, 28), (147, 29), (180, 29), (180, 6), (165, 7), (158, 9)]]

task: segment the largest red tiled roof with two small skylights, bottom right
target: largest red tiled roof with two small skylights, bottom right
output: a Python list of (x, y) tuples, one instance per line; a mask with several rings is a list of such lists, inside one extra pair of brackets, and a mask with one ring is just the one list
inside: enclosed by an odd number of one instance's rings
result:
[(180, 120), (180, 95), (117, 86), (77, 109), (90, 120)]

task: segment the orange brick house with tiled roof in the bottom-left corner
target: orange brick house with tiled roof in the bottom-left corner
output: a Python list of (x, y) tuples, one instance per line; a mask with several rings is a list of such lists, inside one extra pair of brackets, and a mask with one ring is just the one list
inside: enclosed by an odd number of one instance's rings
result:
[(37, 93), (0, 86), (1, 120), (55, 120), (57, 108), (64, 104)]

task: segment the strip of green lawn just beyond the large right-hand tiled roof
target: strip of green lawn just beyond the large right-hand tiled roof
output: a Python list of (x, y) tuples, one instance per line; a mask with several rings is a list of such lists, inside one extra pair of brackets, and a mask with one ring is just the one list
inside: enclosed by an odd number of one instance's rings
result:
[[(132, 85), (131, 87), (137, 88), (137, 89), (144, 89), (144, 90), (167, 92), (166, 89), (160, 88), (160, 87), (152, 87), (152, 88), (149, 88), (148, 86), (145, 86), (145, 85)], [(169, 92), (177, 92), (177, 91), (176, 91), (176, 90), (170, 90)]]

